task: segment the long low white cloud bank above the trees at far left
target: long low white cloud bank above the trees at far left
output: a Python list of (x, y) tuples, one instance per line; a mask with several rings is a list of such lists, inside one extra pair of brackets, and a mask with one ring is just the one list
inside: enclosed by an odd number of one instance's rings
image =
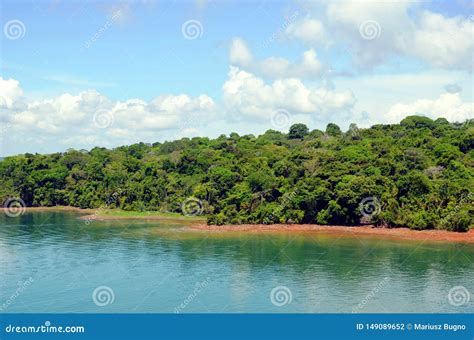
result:
[(25, 143), (35, 137), (51, 144), (120, 145), (137, 141), (156, 140), (160, 131), (174, 130), (176, 134), (202, 126), (216, 115), (216, 104), (207, 95), (161, 95), (150, 102), (140, 99), (113, 101), (95, 90), (77, 95), (29, 101), (22, 96), (16, 80), (0, 77), (0, 118), (7, 134)]

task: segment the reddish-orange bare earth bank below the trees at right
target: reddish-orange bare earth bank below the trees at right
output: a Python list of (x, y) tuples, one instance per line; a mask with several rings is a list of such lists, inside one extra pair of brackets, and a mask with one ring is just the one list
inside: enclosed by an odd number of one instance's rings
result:
[(247, 232), (247, 233), (315, 233), (333, 236), (381, 237), (405, 241), (434, 241), (448, 243), (474, 244), (474, 230), (464, 233), (447, 230), (412, 230), (409, 228), (383, 228), (368, 226), (328, 226), (317, 224), (242, 224), (242, 225), (195, 225), (190, 229), (211, 232)]

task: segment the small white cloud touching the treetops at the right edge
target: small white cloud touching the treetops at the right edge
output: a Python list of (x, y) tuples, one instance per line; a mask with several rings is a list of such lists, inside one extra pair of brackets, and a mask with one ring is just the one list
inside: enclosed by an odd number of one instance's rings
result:
[(434, 100), (420, 99), (412, 103), (396, 104), (388, 110), (386, 118), (390, 123), (398, 123), (406, 116), (415, 114), (463, 122), (474, 117), (474, 103), (463, 102), (458, 93), (443, 93)]

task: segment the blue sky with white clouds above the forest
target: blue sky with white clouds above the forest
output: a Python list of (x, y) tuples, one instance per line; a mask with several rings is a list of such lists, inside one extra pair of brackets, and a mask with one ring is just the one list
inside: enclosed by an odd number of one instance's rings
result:
[(474, 118), (472, 0), (0, 6), (0, 157)]

